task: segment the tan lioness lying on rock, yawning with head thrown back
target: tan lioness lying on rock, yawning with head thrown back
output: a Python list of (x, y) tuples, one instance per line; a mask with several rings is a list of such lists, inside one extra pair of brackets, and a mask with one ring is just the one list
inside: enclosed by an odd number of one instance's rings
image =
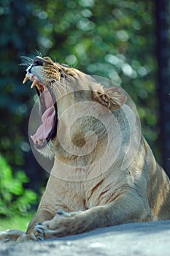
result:
[(123, 89), (104, 89), (90, 75), (40, 56), (28, 67), (23, 83), (27, 80), (33, 82), (42, 109), (42, 124), (31, 140), (55, 162), (26, 233), (7, 230), (1, 240), (37, 241), (170, 219), (169, 178), (142, 136), (123, 167), (133, 142), (129, 126), (136, 124), (131, 111), (125, 114), (129, 108)]

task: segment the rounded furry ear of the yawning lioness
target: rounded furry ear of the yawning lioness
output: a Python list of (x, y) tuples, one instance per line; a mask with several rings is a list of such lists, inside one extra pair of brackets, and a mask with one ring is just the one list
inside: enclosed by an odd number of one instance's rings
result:
[(93, 91), (93, 97), (111, 111), (120, 108), (127, 100), (125, 93), (118, 86), (109, 89), (100, 87), (98, 91)]

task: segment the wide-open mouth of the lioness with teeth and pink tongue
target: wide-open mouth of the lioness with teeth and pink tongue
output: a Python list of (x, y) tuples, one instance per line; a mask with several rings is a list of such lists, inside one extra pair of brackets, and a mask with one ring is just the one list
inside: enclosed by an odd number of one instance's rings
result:
[(31, 135), (36, 148), (44, 147), (56, 135), (57, 130), (57, 105), (53, 98), (53, 91), (47, 88), (43, 83), (31, 73), (26, 74), (23, 83), (27, 80), (33, 81), (31, 89), (36, 88), (39, 95), (39, 102), (41, 105), (41, 119), (42, 123), (36, 129), (36, 133)]

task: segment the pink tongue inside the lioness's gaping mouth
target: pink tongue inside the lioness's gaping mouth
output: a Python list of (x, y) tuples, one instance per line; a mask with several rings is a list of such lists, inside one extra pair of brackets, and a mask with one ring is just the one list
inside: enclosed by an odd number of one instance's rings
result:
[(43, 113), (42, 115), (42, 124), (37, 129), (35, 135), (31, 136), (31, 139), (34, 141), (34, 143), (37, 143), (38, 140), (47, 139), (47, 136), (50, 134), (50, 131), (53, 128), (54, 116), (55, 116), (54, 106), (47, 108), (45, 113)]

